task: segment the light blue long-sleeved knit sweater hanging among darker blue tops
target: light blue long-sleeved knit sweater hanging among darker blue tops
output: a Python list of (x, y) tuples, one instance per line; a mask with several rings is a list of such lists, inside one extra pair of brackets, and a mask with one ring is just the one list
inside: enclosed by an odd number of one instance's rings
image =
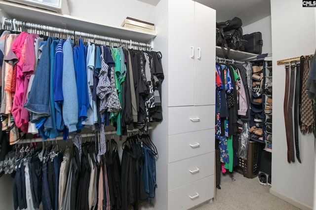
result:
[(78, 123), (78, 97), (74, 66), (74, 53), (70, 38), (63, 46), (63, 118), (69, 132), (77, 131)]

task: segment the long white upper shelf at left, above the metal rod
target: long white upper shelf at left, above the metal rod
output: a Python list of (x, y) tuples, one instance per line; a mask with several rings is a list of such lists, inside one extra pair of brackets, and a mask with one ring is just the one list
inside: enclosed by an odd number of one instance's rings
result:
[(0, 0), (0, 8), (9, 16), (8, 18), (15, 18), (19, 21), (69, 29), (89, 34), (104, 35), (127, 40), (132, 39), (132, 41), (145, 43), (149, 42), (156, 36), (156, 33), (143, 32), (120, 26), (103, 25), (102, 23), (91, 23), (86, 19), (70, 15), (61, 15), (48, 10), (2, 0)]

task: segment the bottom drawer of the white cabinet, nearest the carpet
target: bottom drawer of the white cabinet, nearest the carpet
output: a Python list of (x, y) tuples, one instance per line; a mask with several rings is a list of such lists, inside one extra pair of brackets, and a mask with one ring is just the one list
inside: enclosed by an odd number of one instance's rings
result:
[(187, 210), (213, 197), (214, 175), (211, 175), (168, 191), (168, 210)]

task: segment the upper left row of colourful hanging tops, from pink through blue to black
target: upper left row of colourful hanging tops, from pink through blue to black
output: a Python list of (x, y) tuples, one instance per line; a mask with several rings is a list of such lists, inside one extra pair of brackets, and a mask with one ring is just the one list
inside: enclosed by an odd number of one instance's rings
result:
[[(150, 122), (162, 120), (161, 53), (85, 45), (81, 38), (74, 45), (70, 38), (44, 40), (26, 32), (1, 41), (7, 61), (2, 113), (11, 114), (12, 103), (12, 124), (24, 132), (43, 140), (63, 132), (67, 139), (68, 132), (94, 130), (103, 122), (120, 136), (135, 125), (147, 131)], [(7, 121), (11, 124), (10, 116)]]

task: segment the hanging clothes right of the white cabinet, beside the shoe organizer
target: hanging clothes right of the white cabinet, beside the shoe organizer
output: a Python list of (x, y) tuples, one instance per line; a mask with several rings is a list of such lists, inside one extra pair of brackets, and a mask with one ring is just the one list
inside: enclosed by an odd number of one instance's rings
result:
[(216, 148), (220, 151), (217, 159), (223, 163), (223, 173), (226, 169), (232, 173), (237, 165), (238, 135), (242, 131), (238, 119), (249, 120), (250, 96), (242, 65), (216, 64), (215, 68), (215, 139)]

